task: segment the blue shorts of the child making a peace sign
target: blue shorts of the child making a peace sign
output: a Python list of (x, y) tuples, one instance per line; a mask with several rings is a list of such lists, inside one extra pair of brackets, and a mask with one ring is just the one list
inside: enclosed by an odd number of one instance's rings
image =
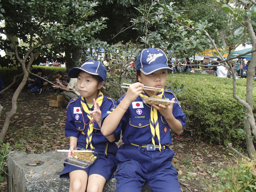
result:
[(116, 169), (116, 152), (117, 152), (117, 146), (116, 143), (110, 143), (108, 144), (107, 154), (108, 157), (105, 156), (105, 146), (106, 143), (100, 143), (98, 145), (93, 145), (96, 149), (93, 150), (97, 153), (99, 153), (99, 156), (97, 157), (96, 161), (89, 167), (82, 169), (77, 166), (69, 165), (64, 163), (64, 169), (61, 172), (60, 177), (69, 177), (69, 172), (75, 171), (75, 170), (84, 170), (87, 172), (87, 175), (92, 174), (98, 174), (105, 177), (106, 180), (109, 180), (113, 177), (113, 172)]

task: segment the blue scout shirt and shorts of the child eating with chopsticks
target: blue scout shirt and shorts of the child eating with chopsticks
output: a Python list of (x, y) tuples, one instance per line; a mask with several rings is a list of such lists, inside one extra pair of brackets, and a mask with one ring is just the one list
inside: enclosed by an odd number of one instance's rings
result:
[[(124, 96), (117, 101), (117, 105)], [(163, 99), (172, 100), (174, 97), (171, 90), (164, 89)], [(184, 130), (186, 114), (176, 103), (173, 105), (172, 113), (181, 122)], [(154, 137), (155, 150), (151, 151), (151, 106), (143, 103), (140, 96), (122, 117), (119, 126), (122, 128), (122, 140), (125, 144), (119, 147), (116, 154), (117, 168), (114, 175), (117, 178), (117, 192), (139, 192), (145, 182), (154, 192), (181, 192), (177, 171), (172, 165), (174, 151), (166, 146), (172, 143), (170, 128), (159, 111), (157, 115), (161, 151), (157, 137)]]

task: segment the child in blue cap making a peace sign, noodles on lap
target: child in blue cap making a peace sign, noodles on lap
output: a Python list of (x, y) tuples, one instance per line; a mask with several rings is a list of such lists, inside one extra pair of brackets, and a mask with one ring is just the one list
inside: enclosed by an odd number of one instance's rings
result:
[[(103, 191), (105, 182), (113, 177), (116, 169), (116, 142), (120, 131), (116, 130), (107, 137), (100, 127), (102, 114), (110, 113), (116, 102), (103, 95), (102, 87), (107, 71), (99, 61), (87, 61), (80, 68), (68, 71), (70, 78), (78, 78), (77, 88), (81, 96), (71, 99), (67, 105), (65, 135), (70, 137), (68, 153), (74, 150), (92, 149), (99, 153), (96, 161), (86, 169), (65, 164), (61, 177), (70, 177), (70, 191)], [(88, 184), (87, 184), (88, 183)]]

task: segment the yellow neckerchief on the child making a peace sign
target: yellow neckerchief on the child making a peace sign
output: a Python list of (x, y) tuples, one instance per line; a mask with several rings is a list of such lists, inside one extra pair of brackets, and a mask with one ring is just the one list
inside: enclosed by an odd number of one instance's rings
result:
[[(99, 103), (99, 107), (101, 107), (102, 105), (102, 102), (103, 102), (103, 94), (101, 91), (99, 91), (99, 94), (98, 94), (98, 97), (96, 99), (96, 102)], [(82, 108), (84, 110), (84, 112), (86, 113), (87, 117), (90, 119), (90, 122), (89, 122), (89, 128), (88, 128), (88, 131), (87, 131), (87, 136), (86, 136), (86, 148), (88, 148), (88, 146), (90, 145), (90, 148), (91, 149), (95, 149), (92, 145), (92, 138), (93, 138), (93, 124), (95, 122), (95, 120), (93, 119), (93, 117), (90, 115), (89, 113), (89, 109), (84, 101), (84, 97), (81, 97), (81, 105), (82, 105)]]

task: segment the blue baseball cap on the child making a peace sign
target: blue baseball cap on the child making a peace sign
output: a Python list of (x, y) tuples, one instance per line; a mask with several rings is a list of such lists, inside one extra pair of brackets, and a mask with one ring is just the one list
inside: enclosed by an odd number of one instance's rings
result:
[(90, 73), (91, 75), (100, 76), (103, 81), (106, 81), (107, 79), (107, 70), (99, 61), (86, 61), (81, 67), (74, 67), (70, 69), (67, 74), (70, 78), (78, 78), (81, 71)]

